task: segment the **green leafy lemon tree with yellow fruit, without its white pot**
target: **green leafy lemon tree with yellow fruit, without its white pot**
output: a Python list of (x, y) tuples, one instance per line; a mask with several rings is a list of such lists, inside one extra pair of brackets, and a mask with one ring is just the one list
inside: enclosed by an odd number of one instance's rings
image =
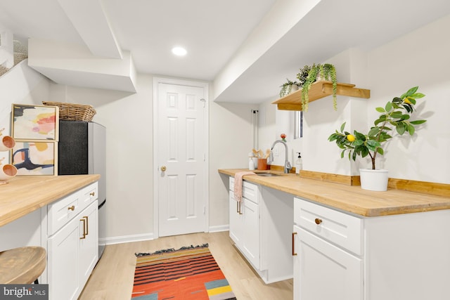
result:
[[(404, 133), (409, 133), (410, 136), (416, 132), (416, 125), (423, 124), (426, 120), (411, 121), (410, 117), (415, 111), (416, 99), (423, 98), (423, 93), (418, 93), (418, 86), (415, 86), (400, 97), (395, 97), (392, 101), (387, 102), (385, 107), (376, 107), (375, 110), (381, 115), (375, 119), (368, 133), (360, 133), (354, 130), (354, 133), (349, 133), (345, 130), (345, 122), (340, 126), (340, 131), (328, 137), (328, 141), (336, 142), (339, 148), (342, 149), (340, 157), (344, 157), (348, 150), (349, 159), (356, 160), (356, 156), (366, 157), (369, 155), (372, 160), (372, 169), (375, 170), (375, 158), (377, 154), (383, 155), (383, 143), (392, 138), (390, 131), (395, 128), (397, 133), (401, 136)], [(391, 128), (392, 127), (392, 128)]]

